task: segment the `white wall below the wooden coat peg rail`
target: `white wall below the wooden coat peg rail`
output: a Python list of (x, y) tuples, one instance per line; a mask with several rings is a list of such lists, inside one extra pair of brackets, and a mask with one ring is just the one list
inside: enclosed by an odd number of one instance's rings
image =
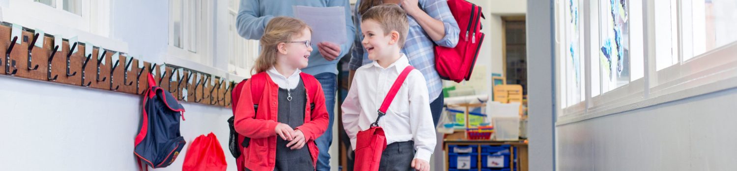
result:
[[(142, 98), (136, 95), (0, 76), (2, 170), (137, 170), (133, 139)], [(184, 103), (187, 142), (217, 135), (228, 167), (230, 109)], [(186, 148), (167, 168), (181, 170)]]

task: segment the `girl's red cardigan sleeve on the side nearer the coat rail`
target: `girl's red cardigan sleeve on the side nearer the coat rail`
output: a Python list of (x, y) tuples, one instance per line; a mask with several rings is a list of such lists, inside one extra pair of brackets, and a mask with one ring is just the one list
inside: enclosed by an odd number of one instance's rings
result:
[[(264, 91), (267, 91), (267, 87), (264, 87)], [(264, 93), (266, 95), (268, 93)], [(245, 137), (250, 138), (266, 138), (276, 136), (276, 125), (279, 124), (273, 120), (261, 120), (255, 119), (254, 113), (254, 102), (251, 98), (251, 80), (245, 81), (241, 89), (241, 95), (238, 98), (237, 109), (235, 109), (235, 131)], [(261, 113), (268, 112), (268, 105), (264, 105), (264, 108), (260, 110)]]

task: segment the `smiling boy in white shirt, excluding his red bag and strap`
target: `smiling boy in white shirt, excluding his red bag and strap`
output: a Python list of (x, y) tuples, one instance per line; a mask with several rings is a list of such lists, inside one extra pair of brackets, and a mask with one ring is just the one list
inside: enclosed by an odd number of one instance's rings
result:
[[(353, 83), (343, 102), (343, 128), (356, 147), (358, 131), (371, 128), (377, 120), (377, 110), (399, 73), (409, 65), (404, 46), (407, 14), (397, 4), (371, 7), (361, 18), (363, 47), (368, 52), (369, 65), (356, 70)], [(436, 145), (436, 131), (430, 114), (430, 98), (425, 78), (412, 70), (399, 88), (386, 115), (379, 120), (386, 135), (386, 149), (380, 170), (430, 170), (430, 155)]]

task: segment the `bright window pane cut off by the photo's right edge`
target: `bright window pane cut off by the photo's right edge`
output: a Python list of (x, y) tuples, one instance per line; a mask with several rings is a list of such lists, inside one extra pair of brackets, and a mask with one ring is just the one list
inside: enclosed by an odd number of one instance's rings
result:
[(682, 4), (684, 47), (691, 48), (684, 49), (684, 61), (737, 40), (737, 1), (688, 0)]

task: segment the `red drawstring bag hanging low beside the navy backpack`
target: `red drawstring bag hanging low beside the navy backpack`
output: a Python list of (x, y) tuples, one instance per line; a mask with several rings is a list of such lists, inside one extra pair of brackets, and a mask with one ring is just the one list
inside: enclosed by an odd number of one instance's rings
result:
[(217, 141), (215, 134), (200, 135), (184, 156), (184, 165), (182, 171), (200, 171), (200, 170), (227, 170), (226, 155), (220, 142)]

